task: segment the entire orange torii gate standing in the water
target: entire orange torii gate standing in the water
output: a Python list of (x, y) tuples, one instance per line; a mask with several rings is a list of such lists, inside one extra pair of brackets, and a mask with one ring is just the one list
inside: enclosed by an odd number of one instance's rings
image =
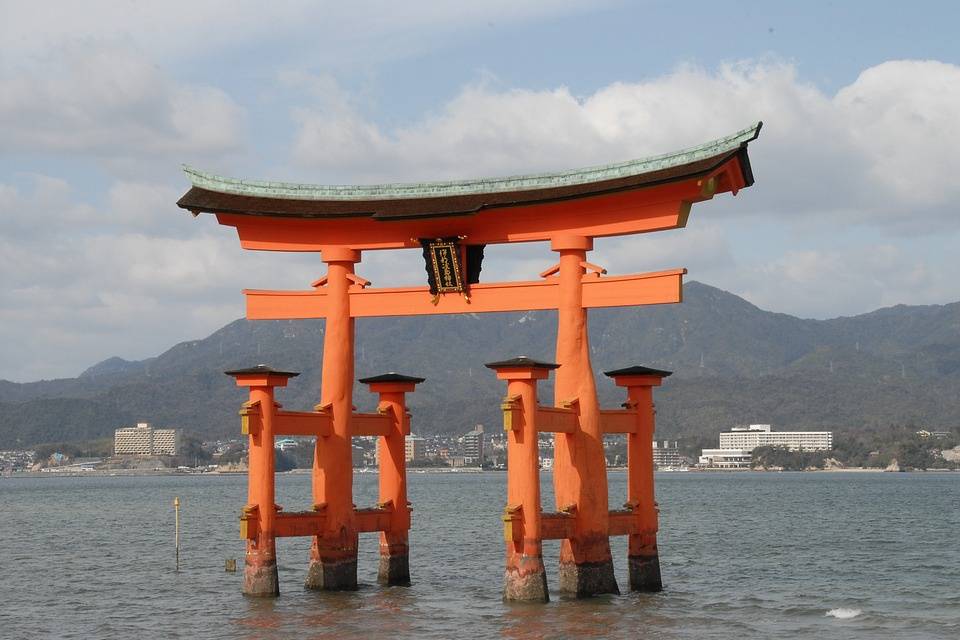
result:
[[(249, 387), (241, 410), (250, 436), (244, 592), (279, 592), (275, 539), (312, 536), (306, 586), (357, 586), (357, 540), (381, 532), (380, 581), (409, 583), (403, 438), (405, 394), (421, 378), (366, 378), (380, 394), (378, 412), (354, 413), (354, 320), (556, 309), (556, 363), (526, 357), (490, 363), (506, 380), (508, 496), (504, 512), (504, 597), (547, 599), (544, 539), (561, 540), (560, 589), (577, 596), (616, 593), (609, 537), (629, 536), (630, 588), (659, 591), (657, 511), (653, 491), (652, 387), (669, 372), (640, 366), (608, 371), (627, 389), (623, 410), (603, 410), (590, 362), (587, 310), (680, 302), (684, 269), (622, 276), (587, 262), (596, 237), (686, 225), (693, 203), (753, 184), (747, 145), (760, 124), (684, 151), (561, 173), (460, 182), (319, 186), (222, 178), (185, 169), (192, 188), (177, 203), (213, 213), (236, 228), (245, 249), (319, 252), (325, 276), (306, 291), (245, 291), (247, 317), (324, 318), (320, 403), (282, 411), (273, 389), (296, 375), (262, 365), (228, 372)], [(541, 280), (480, 283), (487, 244), (549, 241), (559, 262)], [(429, 287), (377, 289), (355, 273), (363, 251), (418, 248)], [(554, 402), (537, 401), (537, 380), (556, 370)], [(540, 508), (537, 433), (555, 436), (557, 512)], [(608, 507), (604, 433), (628, 436), (628, 502)], [(273, 438), (316, 436), (313, 510), (283, 513), (274, 504)], [(353, 505), (350, 438), (380, 437), (380, 503)]]

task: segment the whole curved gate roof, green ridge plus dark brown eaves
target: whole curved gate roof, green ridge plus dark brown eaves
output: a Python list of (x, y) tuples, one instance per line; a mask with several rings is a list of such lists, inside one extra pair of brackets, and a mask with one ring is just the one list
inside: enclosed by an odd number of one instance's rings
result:
[(377, 185), (313, 185), (225, 178), (184, 167), (192, 188), (177, 202), (195, 213), (380, 219), (468, 215), (484, 208), (586, 197), (710, 173), (740, 159), (744, 186), (753, 183), (747, 143), (763, 123), (672, 153), (616, 164), (503, 178)]

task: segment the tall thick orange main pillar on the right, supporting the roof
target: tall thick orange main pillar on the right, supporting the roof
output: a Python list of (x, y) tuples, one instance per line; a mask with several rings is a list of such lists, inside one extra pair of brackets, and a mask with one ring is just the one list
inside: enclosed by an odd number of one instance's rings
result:
[(610, 556), (607, 464), (600, 432), (600, 407), (590, 364), (587, 311), (583, 307), (584, 262), (593, 240), (557, 236), (560, 301), (557, 325), (555, 405), (578, 401), (580, 428), (557, 434), (553, 482), (557, 508), (575, 513), (574, 537), (560, 546), (560, 590), (586, 597), (619, 593)]

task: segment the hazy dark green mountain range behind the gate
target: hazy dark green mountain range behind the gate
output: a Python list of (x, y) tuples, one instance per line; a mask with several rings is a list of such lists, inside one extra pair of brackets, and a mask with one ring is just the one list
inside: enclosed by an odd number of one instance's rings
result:
[[(892, 423), (960, 424), (960, 303), (898, 305), (804, 320), (697, 282), (679, 305), (597, 309), (593, 365), (605, 406), (623, 401), (602, 371), (644, 364), (674, 371), (656, 392), (658, 434), (716, 434), (731, 425), (842, 431)], [(503, 383), (483, 364), (524, 354), (551, 360), (555, 314), (528, 312), (357, 321), (357, 377), (427, 378), (410, 398), (416, 432), (499, 425)], [(203, 437), (238, 433), (245, 394), (223, 375), (266, 363), (300, 371), (278, 400), (318, 400), (323, 321), (237, 320), (147, 360), (110, 358), (77, 378), (0, 381), (0, 448), (112, 435), (150, 421)], [(375, 399), (357, 385), (355, 404)], [(550, 384), (542, 398), (552, 398)]]

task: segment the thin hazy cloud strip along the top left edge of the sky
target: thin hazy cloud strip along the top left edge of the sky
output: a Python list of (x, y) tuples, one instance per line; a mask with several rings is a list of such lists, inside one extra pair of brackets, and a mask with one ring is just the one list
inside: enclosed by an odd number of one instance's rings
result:
[[(197, 59), (208, 51), (269, 56), (295, 48), (303, 59), (356, 65), (422, 52), (464, 29), (522, 23), (609, 4), (598, 0), (0, 0), (0, 59), (26, 60), (64, 44), (136, 42), (152, 59)], [(349, 52), (349, 55), (344, 55)]]

